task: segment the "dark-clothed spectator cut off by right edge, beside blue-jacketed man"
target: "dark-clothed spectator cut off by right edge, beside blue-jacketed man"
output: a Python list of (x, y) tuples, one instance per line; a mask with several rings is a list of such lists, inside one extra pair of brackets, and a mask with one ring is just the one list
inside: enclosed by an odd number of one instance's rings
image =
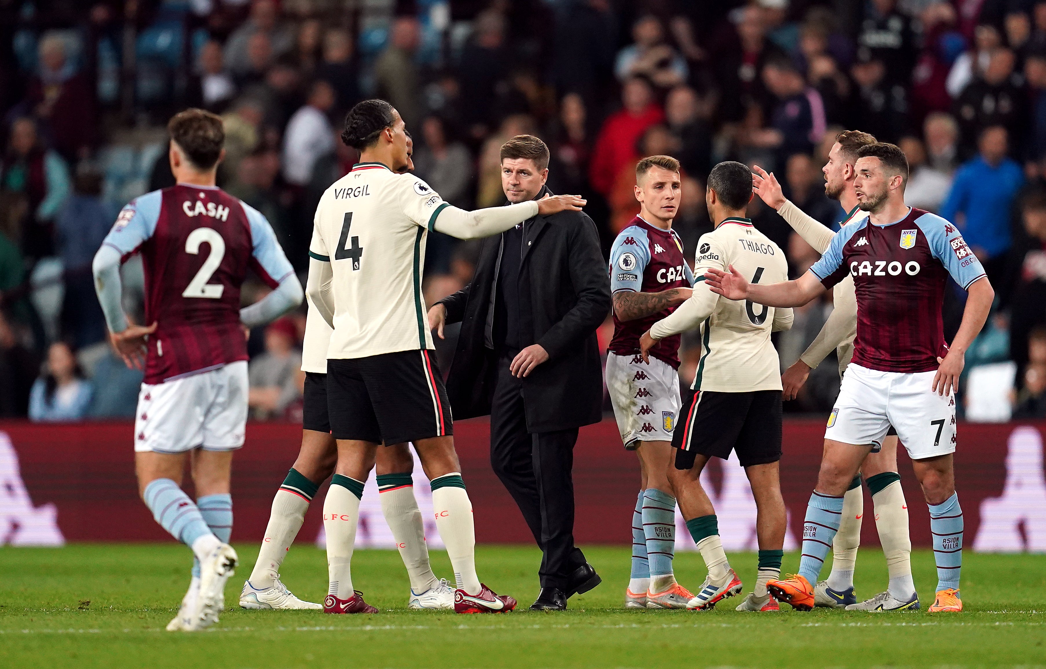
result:
[[(1046, 325), (1046, 192), (1031, 191), (1021, 205), (1023, 237), (1009, 257), (1009, 280), (1002, 293), (1009, 307), (1009, 355), (1023, 369), (1029, 332)], [(1008, 294), (1008, 299), (1007, 299)]]

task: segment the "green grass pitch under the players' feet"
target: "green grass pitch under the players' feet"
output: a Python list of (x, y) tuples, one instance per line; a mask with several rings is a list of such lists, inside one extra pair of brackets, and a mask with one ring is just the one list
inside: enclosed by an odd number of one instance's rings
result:
[[(737, 599), (713, 612), (624, 610), (627, 549), (586, 550), (602, 585), (570, 600), (566, 613), (530, 613), (540, 555), (519, 547), (481, 547), (481, 578), (520, 600), (503, 616), (408, 612), (399, 554), (359, 551), (354, 582), (374, 616), (327, 617), (315, 612), (247, 612), (236, 597), (256, 547), (236, 546), (244, 567), (229, 581), (231, 606), (206, 632), (169, 633), (188, 581), (188, 551), (176, 545), (77, 545), (64, 549), (0, 549), (0, 667), (984, 667), (1046, 666), (1046, 559), (965, 553), (960, 615), (925, 613), (936, 575), (932, 553), (913, 555), (924, 612), (740, 614)], [(746, 581), (755, 557), (734, 554)], [(446, 553), (433, 554), (450, 573)], [(784, 558), (794, 570), (795, 554)], [(704, 577), (700, 556), (676, 558), (681, 582)], [(285, 580), (320, 601), (324, 554), (292, 552)], [(862, 550), (858, 594), (886, 582), (881, 553)], [(90, 600), (90, 603), (87, 603)]]

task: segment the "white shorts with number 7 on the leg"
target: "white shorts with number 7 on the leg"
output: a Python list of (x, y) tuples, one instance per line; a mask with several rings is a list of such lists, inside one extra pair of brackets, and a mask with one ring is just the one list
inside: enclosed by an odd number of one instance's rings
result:
[(955, 452), (955, 395), (933, 392), (929, 372), (881, 372), (852, 363), (843, 374), (825, 439), (876, 444), (892, 424), (912, 460)]

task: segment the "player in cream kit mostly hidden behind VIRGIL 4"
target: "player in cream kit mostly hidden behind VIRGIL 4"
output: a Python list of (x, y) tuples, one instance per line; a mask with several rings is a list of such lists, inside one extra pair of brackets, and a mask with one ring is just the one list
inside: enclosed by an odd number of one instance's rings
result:
[[(412, 142), (409, 137), (407, 146), (408, 164), (402, 171), (409, 171), (414, 166), (410, 161)], [(240, 605), (244, 608), (323, 608), (295, 597), (280, 581), (279, 568), (301, 529), (313, 497), (323, 481), (334, 474), (338, 460), (326, 400), (326, 351), (332, 332), (331, 326), (310, 303), (301, 351), (301, 370), (305, 372), (301, 449), (272, 501), (258, 559), (240, 595)], [(374, 459), (382, 515), (392, 530), (410, 577), (407, 608), (454, 608), (454, 589), (447, 579), (436, 578), (429, 563), (425, 526), (414, 499), (413, 467), (414, 460), (405, 443), (379, 449)], [(324, 513), (327, 520), (325, 516)], [(343, 573), (350, 576), (348, 568)], [(363, 601), (362, 594), (356, 596), (355, 592), (348, 604), (331, 610), (342, 614), (377, 612)]]

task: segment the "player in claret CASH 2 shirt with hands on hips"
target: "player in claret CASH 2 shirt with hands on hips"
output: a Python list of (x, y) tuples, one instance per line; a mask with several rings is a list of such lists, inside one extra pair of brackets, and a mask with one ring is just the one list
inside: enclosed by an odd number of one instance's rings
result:
[[(192, 549), (188, 593), (168, 630), (218, 621), (236, 553), (229, 472), (247, 422), (244, 328), (297, 306), (301, 284), (265, 216), (214, 185), (225, 154), (222, 119), (181, 112), (167, 124), (176, 185), (128, 204), (94, 256), (98, 301), (113, 346), (144, 366), (135, 417), (138, 488), (157, 523)], [(120, 263), (140, 253), (145, 322), (129, 323), (120, 303)], [(240, 308), (251, 269), (272, 292)], [(191, 463), (197, 501), (181, 489)]]

